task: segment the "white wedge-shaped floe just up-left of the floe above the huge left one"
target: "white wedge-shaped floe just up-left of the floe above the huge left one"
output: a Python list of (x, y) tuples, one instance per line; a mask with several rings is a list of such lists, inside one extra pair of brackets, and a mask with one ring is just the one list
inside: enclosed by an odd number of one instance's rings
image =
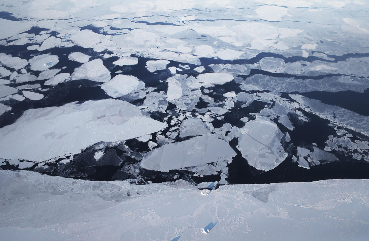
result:
[(96, 82), (110, 80), (110, 71), (104, 66), (103, 60), (94, 59), (76, 68), (72, 74), (72, 80), (87, 79)]

